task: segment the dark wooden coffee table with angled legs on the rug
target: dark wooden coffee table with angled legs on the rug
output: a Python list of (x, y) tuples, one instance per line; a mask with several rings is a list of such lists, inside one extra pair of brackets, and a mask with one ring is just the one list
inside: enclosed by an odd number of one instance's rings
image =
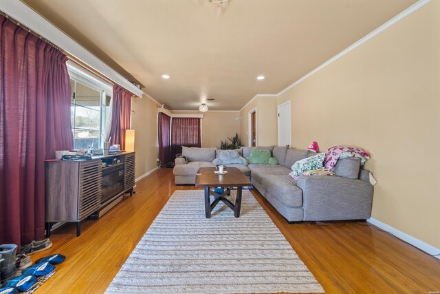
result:
[[(241, 189), (243, 186), (250, 186), (250, 180), (236, 167), (225, 167), (224, 170), (228, 171), (228, 173), (219, 175), (214, 174), (214, 171), (218, 171), (215, 167), (201, 167), (195, 176), (195, 185), (197, 187), (205, 187), (206, 218), (211, 217), (212, 209), (214, 209), (220, 201), (228, 205), (228, 207), (234, 211), (234, 216), (236, 218), (240, 216)], [(223, 193), (217, 193), (214, 190), (211, 190), (211, 187), (227, 187), (227, 189), (225, 189)], [(225, 198), (225, 196), (230, 195), (230, 187), (236, 187), (235, 204), (232, 204), (230, 200)], [(212, 203), (210, 202), (211, 195), (215, 198)]]

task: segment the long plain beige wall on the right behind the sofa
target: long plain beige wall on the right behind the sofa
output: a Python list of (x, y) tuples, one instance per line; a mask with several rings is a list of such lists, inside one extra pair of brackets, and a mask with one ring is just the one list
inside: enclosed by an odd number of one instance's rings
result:
[(440, 248), (440, 1), (366, 41), (278, 97), (292, 145), (371, 153), (372, 217)]

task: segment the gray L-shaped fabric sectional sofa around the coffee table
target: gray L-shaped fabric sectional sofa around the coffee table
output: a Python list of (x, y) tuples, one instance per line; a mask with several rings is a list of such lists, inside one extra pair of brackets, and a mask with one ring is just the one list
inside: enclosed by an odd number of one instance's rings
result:
[[(252, 149), (267, 149), (278, 165), (230, 165), (250, 176), (252, 185), (289, 222), (323, 220), (365, 220), (371, 216), (373, 186), (369, 171), (360, 169), (358, 158), (338, 160), (336, 176), (289, 176), (292, 165), (315, 153), (287, 147), (243, 147), (243, 157)], [(219, 151), (212, 148), (184, 148), (176, 158), (173, 173), (177, 185), (194, 184), (199, 167), (214, 167)], [(227, 165), (228, 166), (228, 165)]]

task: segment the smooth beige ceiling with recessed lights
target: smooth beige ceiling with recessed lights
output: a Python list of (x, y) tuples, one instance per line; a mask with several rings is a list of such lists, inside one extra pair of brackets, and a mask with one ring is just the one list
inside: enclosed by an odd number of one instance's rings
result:
[[(168, 109), (276, 94), (415, 0), (23, 0)], [(162, 78), (169, 74), (169, 79)], [(263, 75), (263, 81), (256, 76)]]

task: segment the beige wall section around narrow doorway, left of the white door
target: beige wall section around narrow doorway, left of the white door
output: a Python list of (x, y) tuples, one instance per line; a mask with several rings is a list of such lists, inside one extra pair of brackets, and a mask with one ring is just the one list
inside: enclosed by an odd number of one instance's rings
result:
[(249, 146), (249, 112), (256, 109), (256, 145), (276, 145), (278, 142), (276, 96), (256, 96), (240, 111), (241, 142)]

